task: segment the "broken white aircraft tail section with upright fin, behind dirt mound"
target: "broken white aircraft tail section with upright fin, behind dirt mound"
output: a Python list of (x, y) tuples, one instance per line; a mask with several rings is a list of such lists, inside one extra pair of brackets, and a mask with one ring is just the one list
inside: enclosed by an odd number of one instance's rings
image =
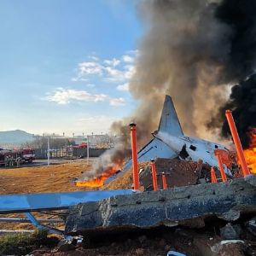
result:
[[(149, 162), (156, 158), (179, 158), (180, 160), (202, 160), (204, 164), (218, 167), (214, 152), (223, 150), (229, 153), (229, 150), (221, 144), (185, 136), (172, 97), (168, 95), (164, 102), (158, 131), (154, 131), (152, 135), (154, 138), (137, 153), (138, 162)], [(131, 168), (131, 165), (132, 160), (128, 160), (124, 170), (113, 177), (108, 177), (105, 183), (110, 183), (116, 177), (123, 175)], [(229, 169), (226, 168), (224, 171), (231, 175)]]

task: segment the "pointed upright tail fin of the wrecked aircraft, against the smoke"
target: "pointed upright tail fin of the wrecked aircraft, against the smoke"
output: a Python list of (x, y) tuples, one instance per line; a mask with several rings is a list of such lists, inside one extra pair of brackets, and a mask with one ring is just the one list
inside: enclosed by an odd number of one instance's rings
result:
[(177, 118), (172, 97), (166, 95), (158, 131), (166, 132), (172, 136), (183, 136), (183, 130)]

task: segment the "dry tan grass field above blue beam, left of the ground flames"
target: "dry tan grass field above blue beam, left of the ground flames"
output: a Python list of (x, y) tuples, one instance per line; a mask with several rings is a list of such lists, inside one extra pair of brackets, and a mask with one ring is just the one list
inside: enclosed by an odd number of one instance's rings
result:
[(71, 160), (65, 164), (0, 169), (0, 195), (86, 190), (73, 182), (90, 170), (94, 160)]

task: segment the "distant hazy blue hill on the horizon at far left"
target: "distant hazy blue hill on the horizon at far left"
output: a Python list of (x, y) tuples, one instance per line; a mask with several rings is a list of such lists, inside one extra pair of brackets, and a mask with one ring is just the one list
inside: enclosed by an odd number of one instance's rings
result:
[(0, 131), (0, 148), (3, 144), (19, 145), (21, 143), (31, 142), (33, 135), (26, 131)]

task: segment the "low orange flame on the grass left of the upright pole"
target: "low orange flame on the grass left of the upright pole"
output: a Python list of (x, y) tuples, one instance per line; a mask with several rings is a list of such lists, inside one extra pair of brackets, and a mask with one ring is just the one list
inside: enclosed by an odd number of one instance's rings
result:
[(98, 177), (95, 177), (90, 180), (78, 181), (76, 185), (78, 187), (90, 187), (90, 188), (98, 188), (104, 184), (104, 181), (119, 171), (119, 165), (109, 166), (102, 174)]

